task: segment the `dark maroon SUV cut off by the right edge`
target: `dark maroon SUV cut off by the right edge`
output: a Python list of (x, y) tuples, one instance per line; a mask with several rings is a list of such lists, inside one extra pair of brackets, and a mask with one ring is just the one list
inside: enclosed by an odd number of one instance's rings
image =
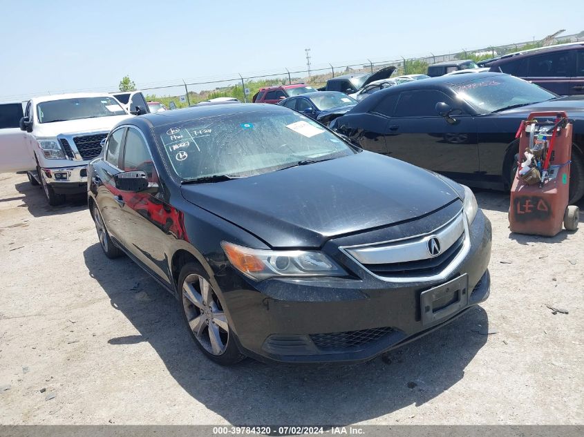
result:
[(487, 66), (558, 95), (584, 95), (584, 42), (513, 53)]

